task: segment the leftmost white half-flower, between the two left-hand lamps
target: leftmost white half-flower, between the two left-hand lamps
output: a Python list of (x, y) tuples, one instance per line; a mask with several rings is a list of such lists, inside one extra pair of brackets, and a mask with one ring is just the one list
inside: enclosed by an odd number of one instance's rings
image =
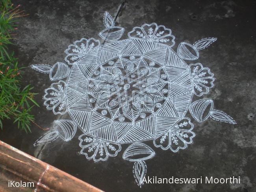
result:
[(46, 109), (52, 109), (54, 114), (64, 114), (67, 111), (65, 100), (65, 82), (52, 83), (51, 87), (45, 90), (44, 105)]

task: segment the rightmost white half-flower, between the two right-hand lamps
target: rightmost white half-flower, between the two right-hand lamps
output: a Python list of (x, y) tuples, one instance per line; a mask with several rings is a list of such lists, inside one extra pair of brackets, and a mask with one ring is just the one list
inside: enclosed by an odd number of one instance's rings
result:
[(203, 67), (201, 63), (189, 65), (191, 76), (194, 85), (194, 93), (197, 96), (207, 94), (209, 89), (214, 86), (214, 74), (210, 72), (209, 68)]

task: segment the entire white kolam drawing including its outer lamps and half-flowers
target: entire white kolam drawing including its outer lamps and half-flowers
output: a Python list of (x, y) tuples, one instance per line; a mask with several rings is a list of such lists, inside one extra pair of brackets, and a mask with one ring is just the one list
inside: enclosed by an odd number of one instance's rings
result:
[[(104, 39), (82, 38), (70, 45), (64, 63), (32, 65), (48, 73), (52, 81), (45, 90), (45, 105), (54, 114), (68, 113), (72, 120), (54, 122), (54, 130), (39, 138), (35, 145), (61, 138), (70, 140), (76, 127), (81, 154), (95, 162), (117, 156), (121, 144), (131, 145), (123, 159), (134, 162), (134, 177), (143, 185), (147, 172), (145, 160), (154, 157), (143, 141), (152, 140), (163, 150), (186, 149), (195, 137), (187, 111), (197, 122), (208, 117), (236, 124), (226, 113), (213, 109), (213, 101), (201, 99), (191, 103), (193, 95), (207, 94), (213, 87), (213, 74), (196, 60), (199, 50), (216, 38), (206, 38), (193, 45), (182, 42), (177, 53), (171, 48), (171, 30), (156, 23), (135, 27), (128, 39), (119, 40), (124, 29), (114, 26), (109, 13), (104, 15)], [(105, 43), (106, 41), (106, 43)], [(64, 79), (64, 80), (60, 80)]]

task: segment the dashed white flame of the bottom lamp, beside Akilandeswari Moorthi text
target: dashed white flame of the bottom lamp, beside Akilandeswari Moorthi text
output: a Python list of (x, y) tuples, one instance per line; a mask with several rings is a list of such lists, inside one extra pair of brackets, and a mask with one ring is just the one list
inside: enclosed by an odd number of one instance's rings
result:
[(145, 161), (137, 161), (134, 163), (134, 177), (139, 187), (143, 185), (143, 178), (147, 172), (147, 165)]

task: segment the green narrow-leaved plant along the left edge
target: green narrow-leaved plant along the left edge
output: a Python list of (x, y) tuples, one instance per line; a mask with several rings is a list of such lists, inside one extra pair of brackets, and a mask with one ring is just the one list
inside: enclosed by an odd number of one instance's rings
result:
[(10, 0), (0, 3), (0, 127), (3, 129), (2, 120), (12, 119), (18, 128), (31, 132), (30, 124), (35, 123), (31, 109), (38, 106), (33, 100), (35, 93), (30, 85), (21, 88), (22, 68), (13, 52), (8, 51), (13, 32), (17, 30), (17, 19), (26, 16), (19, 7), (13, 7)]

